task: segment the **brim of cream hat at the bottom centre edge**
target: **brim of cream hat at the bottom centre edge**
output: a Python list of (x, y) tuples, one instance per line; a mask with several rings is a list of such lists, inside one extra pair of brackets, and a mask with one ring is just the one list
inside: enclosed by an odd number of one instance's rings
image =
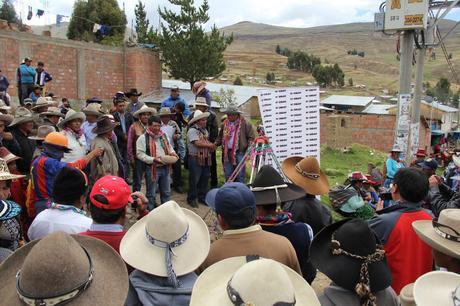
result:
[[(247, 263), (245, 256), (231, 257), (208, 267), (200, 274), (193, 286), (190, 306), (221, 305), (233, 306), (228, 298), (227, 284), (233, 274)], [(306, 280), (291, 268), (279, 263), (286, 271), (294, 287), (296, 305), (319, 306), (315, 291)], [(263, 294), (260, 291), (258, 294)]]

